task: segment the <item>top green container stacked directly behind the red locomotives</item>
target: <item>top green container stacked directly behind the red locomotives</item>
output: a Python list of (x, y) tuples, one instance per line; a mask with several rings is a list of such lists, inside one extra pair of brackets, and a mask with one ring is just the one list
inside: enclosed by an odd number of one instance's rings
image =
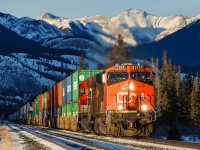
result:
[(72, 101), (78, 101), (79, 84), (102, 70), (80, 70), (72, 74)]

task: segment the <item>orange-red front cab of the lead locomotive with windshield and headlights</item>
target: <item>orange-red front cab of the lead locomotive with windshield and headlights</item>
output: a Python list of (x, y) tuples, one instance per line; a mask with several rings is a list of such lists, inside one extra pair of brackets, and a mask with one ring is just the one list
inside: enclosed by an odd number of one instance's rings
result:
[(154, 88), (150, 68), (132, 64), (116, 65), (108, 68), (105, 76), (106, 110), (138, 112), (153, 109)]

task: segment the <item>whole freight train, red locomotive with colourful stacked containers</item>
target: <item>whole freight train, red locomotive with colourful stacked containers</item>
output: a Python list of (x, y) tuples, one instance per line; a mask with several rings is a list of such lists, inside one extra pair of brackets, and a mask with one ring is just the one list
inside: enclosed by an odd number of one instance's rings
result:
[(9, 116), (12, 121), (114, 136), (153, 131), (153, 72), (130, 63), (79, 70)]

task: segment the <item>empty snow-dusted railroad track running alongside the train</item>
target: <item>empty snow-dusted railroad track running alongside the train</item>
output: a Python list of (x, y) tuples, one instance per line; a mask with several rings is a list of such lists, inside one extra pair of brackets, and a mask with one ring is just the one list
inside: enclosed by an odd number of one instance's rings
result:
[(35, 126), (27, 126), (27, 125), (16, 125), (16, 124), (8, 124), (11, 128), (17, 127), (20, 130), (24, 130), (29, 132), (37, 137), (40, 137), (44, 140), (57, 144), (66, 149), (84, 149), (84, 150), (93, 150), (93, 149), (126, 149), (126, 150), (136, 150), (136, 148), (130, 148), (127, 146), (108, 143), (103, 141), (98, 141), (94, 139), (87, 139), (83, 137), (77, 137), (65, 133), (60, 133), (58, 131), (51, 131), (48, 128), (38, 128)]

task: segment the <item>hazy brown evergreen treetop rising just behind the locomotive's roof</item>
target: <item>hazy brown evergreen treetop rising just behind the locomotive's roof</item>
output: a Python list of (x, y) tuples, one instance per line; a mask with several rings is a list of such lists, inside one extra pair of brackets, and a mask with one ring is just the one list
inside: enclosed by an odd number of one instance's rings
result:
[(119, 34), (117, 43), (112, 47), (112, 50), (108, 53), (109, 63), (106, 64), (107, 67), (130, 62), (130, 50), (126, 47), (123, 41), (123, 37)]

